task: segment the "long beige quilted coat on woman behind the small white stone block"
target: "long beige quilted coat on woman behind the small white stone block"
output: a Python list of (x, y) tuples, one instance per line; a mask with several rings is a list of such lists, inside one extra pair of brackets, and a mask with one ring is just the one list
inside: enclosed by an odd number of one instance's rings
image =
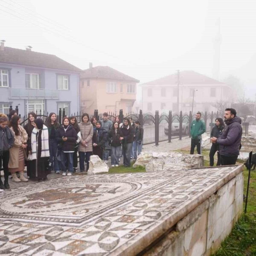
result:
[[(92, 152), (93, 151), (93, 125), (90, 121), (87, 123), (81, 122), (79, 123), (79, 128), (81, 131), (81, 140), (78, 145), (79, 152)], [(82, 145), (82, 142), (85, 141), (87, 143), (87, 147)]]

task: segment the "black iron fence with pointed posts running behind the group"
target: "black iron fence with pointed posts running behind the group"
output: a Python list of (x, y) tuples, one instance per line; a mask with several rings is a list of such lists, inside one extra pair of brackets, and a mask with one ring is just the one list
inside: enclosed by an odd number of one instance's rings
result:
[[(10, 107), (10, 111), (12, 107)], [(16, 106), (15, 109), (18, 112), (18, 107)], [(44, 113), (43, 111), (37, 111), (36, 115), (44, 120), (47, 119), (49, 113)], [(77, 122), (81, 122), (81, 117), (83, 112), (76, 112), (71, 113), (70, 116), (75, 116)], [(65, 109), (59, 109), (57, 114), (58, 122), (62, 122), (62, 118), (65, 117)], [(95, 116), (97, 120), (102, 120), (102, 113), (99, 113), (98, 110), (95, 110), (93, 115), (89, 115), (91, 118)], [(151, 144), (155, 143), (158, 145), (161, 141), (168, 141), (171, 142), (172, 139), (179, 138), (182, 140), (183, 137), (190, 136), (190, 127), (193, 119), (195, 119), (195, 113), (192, 114), (190, 111), (189, 113), (172, 113), (169, 111), (168, 113), (159, 113), (159, 111), (155, 111), (154, 113), (146, 112), (143, 113), (140, 110), (139, 113), (130, 112), (130, 113), (123, 113), (123, 110), (120, 109), (119, 113), (108, 112), (108, 118), (113, 122), (116, 118), (119, 117), (119, 122), (123, 122), (125, 117), (132, 118), (133, 121), (139, 120), (140, 124), (143, 126), (144, 129), (144, 137), (143, 137), (143, 144)], [(216, 113), (207, 112), (205, 111), (202, 113), (202, 119), (204, 120), (206, 131), (211, 131), (212, 127), (215, 125), (215, 119), (217, 117), (223, 117), (223, 113)], [(28, 118), (27, 116), (21, 117), (22, 122), (21, 125), (25, 125)], [(243, 123), (243, 130), (248, 131), (249, 123)], [(248, 133), (248, 132), (247, 132)]]

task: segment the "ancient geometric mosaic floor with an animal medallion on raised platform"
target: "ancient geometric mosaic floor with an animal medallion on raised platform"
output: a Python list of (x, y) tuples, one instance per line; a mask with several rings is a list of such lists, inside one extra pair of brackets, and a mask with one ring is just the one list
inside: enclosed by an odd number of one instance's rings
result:
[(79, 175), (6, 190), (0, 255), (131, 255), (237, 169)]

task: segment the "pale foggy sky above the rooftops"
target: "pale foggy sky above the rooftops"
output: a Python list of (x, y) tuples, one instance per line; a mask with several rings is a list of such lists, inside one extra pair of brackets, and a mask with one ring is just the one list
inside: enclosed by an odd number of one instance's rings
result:
[(238, 76), (255, 99), (255, 12), (253, 0), (0, 0), (0, 40), (81, 69), (110, 66), (141, 83), (178, 69), (212, 77), (220, 18), (220, 80)]

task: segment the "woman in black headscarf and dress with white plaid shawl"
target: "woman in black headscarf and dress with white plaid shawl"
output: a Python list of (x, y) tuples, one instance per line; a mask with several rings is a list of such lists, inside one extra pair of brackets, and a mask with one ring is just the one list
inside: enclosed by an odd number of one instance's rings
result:
[(29, 143), (29, 160), (31, 161), (30, 178), (37, 178), (38, 181), (47, 180), (50, 170), (49, 160), (49, 136), (48, 128), (41, 118), (35, 119), (35, 128), (32, 131), (31, 143)]

